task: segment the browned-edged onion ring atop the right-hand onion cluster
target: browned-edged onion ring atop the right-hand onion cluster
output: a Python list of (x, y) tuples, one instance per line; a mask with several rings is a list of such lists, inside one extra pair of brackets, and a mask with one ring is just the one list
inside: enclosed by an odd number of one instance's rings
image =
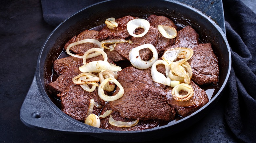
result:
[(177, 47), (177, 48), (171, 48), (168, 49), (163, 53), (163, 60), (167, 61), (169, 64), (171, 64), (173, 61), (175, 61), (178, 57), (182, 60), (180, 61), (180, 65), (190, 59), (193, 56), (194, 52), (190, 48), (185, 47)]

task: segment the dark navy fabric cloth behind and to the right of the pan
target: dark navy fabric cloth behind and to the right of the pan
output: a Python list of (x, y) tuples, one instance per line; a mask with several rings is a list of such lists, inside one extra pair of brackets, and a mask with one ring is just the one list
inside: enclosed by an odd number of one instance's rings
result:
[[(41, 0), (45, 21), (57, 26), (76, 11), (102, 0)], [(225, 119), (244, 142), (256, 141), (256, 14), (240, 0), (224, 0), (226, 37), (232, 69), (225, 93)]]

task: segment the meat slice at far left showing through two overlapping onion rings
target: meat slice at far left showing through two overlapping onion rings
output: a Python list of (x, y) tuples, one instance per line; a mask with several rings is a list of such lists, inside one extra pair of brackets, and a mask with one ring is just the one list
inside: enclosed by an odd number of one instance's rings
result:
[[(83, 54), (77, 54), (83, 55)], [(86, 63), (91, 61), (104, 60), (102, 55), (86, 59)], [(108, 62), (115, 64), (111, 59), (108, 58)], [(56, 75), (61, 75), (68, 69), (78, 69), (83, 65), (83, 59), (74, 56), (57, 59), (53, 62), (53, 71)]]

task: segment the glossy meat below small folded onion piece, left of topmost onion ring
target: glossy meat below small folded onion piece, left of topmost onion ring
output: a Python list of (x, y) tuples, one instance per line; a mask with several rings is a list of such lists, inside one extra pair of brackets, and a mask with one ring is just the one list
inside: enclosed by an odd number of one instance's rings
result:
[(136, 17), (125, 16), (122, 18), (116, 19), (118, 26), (113, 29), (109, 29), (107, 26), (103, 27), (102, 30), (99, 31), (98, 36), (96, 37), (100, 41), (106, 39), (126, 39), (131, 35), (128, 33), (126, 29), (126, 25), (130, 20), (136, 19)]

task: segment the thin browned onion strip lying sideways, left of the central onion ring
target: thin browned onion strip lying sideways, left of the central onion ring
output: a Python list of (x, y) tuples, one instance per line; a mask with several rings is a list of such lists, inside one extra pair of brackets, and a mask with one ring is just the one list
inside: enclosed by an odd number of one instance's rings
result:
[[(131, 40), (124, 40), (124, 39), (110, 39), (110, 40), (103, 40), (100, 42), (101, 47), (108, 49), (110, 51), (113, 51), (117, 43), (129, 43), (132, 44), (133, 42)], [(107, 44), (112, 44), (109, 47), (105, 46)]]

